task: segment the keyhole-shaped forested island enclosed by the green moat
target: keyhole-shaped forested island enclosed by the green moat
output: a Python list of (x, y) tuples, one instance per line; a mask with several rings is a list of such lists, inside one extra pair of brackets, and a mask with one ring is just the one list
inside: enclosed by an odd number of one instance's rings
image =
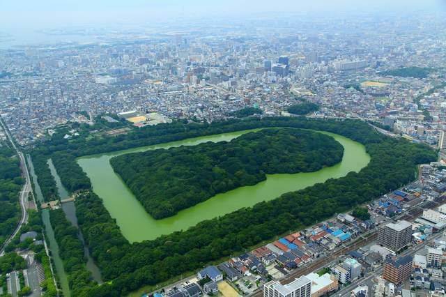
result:
[(231, 142), (120, 155), (110, 160), (153, 218), (167, 218), (222, 192), (255, 185), (266, 174), (314, 172), (342, 160), (328, 135), (296, 129), (249, 132)]

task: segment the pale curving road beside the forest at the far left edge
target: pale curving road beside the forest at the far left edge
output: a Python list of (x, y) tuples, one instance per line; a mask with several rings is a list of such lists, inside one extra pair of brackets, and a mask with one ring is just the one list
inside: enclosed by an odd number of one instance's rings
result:
[(13, 238), (17, 235), (17, 233), (19, 233), (20, 228), (22, 228), (22, 225), (26, 224), (26, 222), (28, 221), (28, 213), (26, 212), (26, 204), (28, 204), (29, 193), (31, 192), (31, 195), (33, 195), (33, 192), (31, 191), (32, 190), (31, 179), (29, 178), (28, 167), (26, 167), (24, 155), (21, 151), (19, 151), (17, 149), (17, 146), (15, 146), (13, 137), (11, 137), (9, 130), (6, 128), (5, 123), (3, 123), (3, 120), (1, 119), (1, 116), (0, 116), (0, 125), (1, 125), (1, 128), (3, 128), (3, 130), (5, 131), (6, 137), (8, 137), (9, 142), (12, 144), (14, 150), (17, 152), (17, 155), (19, 156), (20, 167), (22, 168), (22, 173), (25, 178), (25, 183), (23, 185), (22, 191), (20, 192), (20, 208), (22, 211), (22, 217), (20, 218), (20, 222), (19, 222), (19, 224), (17, 224), (17, 227), (15, 228), (13, 234), (11, 234), (11, 236), (1, 246), (0, 255), (2, 255), (2, 254), (4, 254), (6, 245), (8, 245), (8, 243), (10, 243), (11, 240), (13, 240)]

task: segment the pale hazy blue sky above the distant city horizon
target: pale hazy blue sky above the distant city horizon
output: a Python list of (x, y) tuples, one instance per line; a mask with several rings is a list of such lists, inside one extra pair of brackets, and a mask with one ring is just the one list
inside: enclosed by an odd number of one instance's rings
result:
[(268, 12), (339, 13), (445, 10), (443, 0), (0, 0), (0, 30), (115, 22), (146, 23), (178, 15)]

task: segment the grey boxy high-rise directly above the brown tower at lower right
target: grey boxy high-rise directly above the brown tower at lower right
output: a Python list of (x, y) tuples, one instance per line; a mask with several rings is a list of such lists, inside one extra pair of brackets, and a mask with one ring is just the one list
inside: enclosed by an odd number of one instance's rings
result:
[(378, 231), (378, 244), (394, 252), (406, 247), (412, 241), (412, 224), (405, 220), (381, 226)]

